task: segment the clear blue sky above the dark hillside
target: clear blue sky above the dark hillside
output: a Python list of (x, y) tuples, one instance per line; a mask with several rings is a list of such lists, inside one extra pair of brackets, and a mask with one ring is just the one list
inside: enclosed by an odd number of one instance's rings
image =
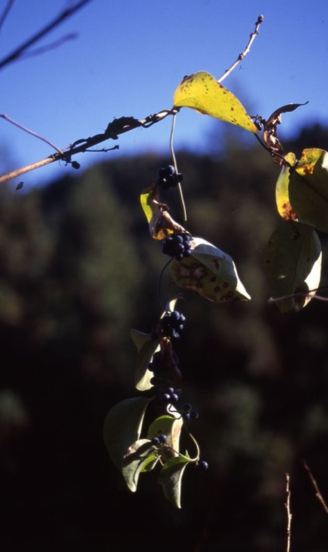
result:
[[(0, 0), (1, 11), (6, 3)], [(16, 0), (0, 32), (0, 57), (69, 3)], [(251, 115), (263, 117), (285, 103), (309, 100), (283, 116), (287, 135), (309, 121), (328, 124), (328, 0), (93, 0), (37, 46), (70, 32), (78, 32), (77, 39), (0, 72), (0, 113), (62, 148), (103, 132), (113, 117), (143, 118), (171, 108), (184, 75), (197, 70), (222, 75), (246, 46), (259, 14), (260, 34), (224, 86)], [(175, 146), (204, 149), (212, 125), (209, 117), (183, 109)], [(86, 168), (116, 155), (168, 152), (170, 126), (166, 119), (133, 130), (119, 138), (119, 152), (76, 159)], [(1, 172), (53, 152), (3, 119), (0, 151)], [(19, 180), (33, 186), (65, 172), (75, 174), (57, 163)]]

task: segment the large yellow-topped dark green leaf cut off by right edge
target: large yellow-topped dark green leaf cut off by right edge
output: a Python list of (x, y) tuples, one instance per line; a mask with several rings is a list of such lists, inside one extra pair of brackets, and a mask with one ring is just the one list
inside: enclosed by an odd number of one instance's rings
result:
[(303, 150), (297, 168), (290, 171), (289, 197), (298, 220), (328, 232), (328, 152)]

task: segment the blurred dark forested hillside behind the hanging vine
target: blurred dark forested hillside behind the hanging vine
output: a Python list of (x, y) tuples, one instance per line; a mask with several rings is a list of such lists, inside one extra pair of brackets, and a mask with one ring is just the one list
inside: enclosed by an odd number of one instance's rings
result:
[[(328, 149), (305, 128), (286, 150)], [(180, 152), (189, 230), (230, 253), (253, 300), (213, 305), (185, 294), (177, 345), (192, 431), (210, 469), (186, 471), (183, 509), (155, 477), (126, 490), (102, 441), (111, 406), (135, 396), (131, 327), (151, 331), (166, 258), (148, 236), (139, 192), (170, 161), (104, 162), (76, 178), (0, 197), (0, 446), (3, 550), (273, 552), (285, 547), (284, 473), (292, 547), (327, 552), (327, 304), (297, 315), (269, 306), (262, 253), (278, 224), (279, 168), (227, 139), (211, 157)], [(175, 192), (164, 194), (181, 217)], [(327, 237), (320, 235), (327, 251)], [(322, 284), (327, 284), (327, 253)], [(169, 274), (164, 295), (174, 295)], [(119, 428), (117, 428), (119, 431)]]

